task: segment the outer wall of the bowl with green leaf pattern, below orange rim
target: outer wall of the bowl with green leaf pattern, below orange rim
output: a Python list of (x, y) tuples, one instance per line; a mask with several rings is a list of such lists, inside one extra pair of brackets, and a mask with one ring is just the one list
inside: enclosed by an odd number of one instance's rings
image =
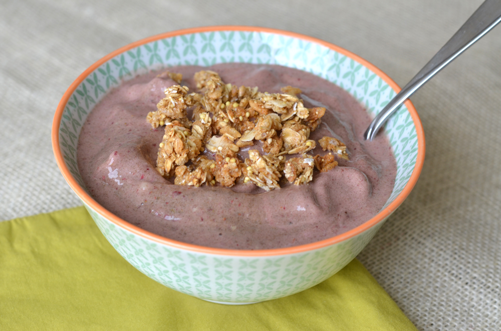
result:
[(220, 302), (271, 300), (310, 288), (348, 264), (384, 222), (305, 253), (240, 257), (163, 245), (128, 232), (85, 206), (106, 239), (138, 270), (182, 293)]

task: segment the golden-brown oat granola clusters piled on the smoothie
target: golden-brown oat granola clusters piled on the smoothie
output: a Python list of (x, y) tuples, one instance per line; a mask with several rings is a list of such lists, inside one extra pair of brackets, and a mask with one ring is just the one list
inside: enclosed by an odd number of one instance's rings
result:
[[(309, 137), (320, 125), (325, 108), (305, 107), (297, 87), (283, 87), (283, 93), (263, 93), (258, 87), (224, 83), (216, 72), (202, 70), (194, 76), (199, 91), (188, 93), (188, 87), (180, 85), (180, 73), (165, 71), (158, 76), (179, 84), (165, 89), (157, 111), (146, 117), (153, 128), (165, 125), (156, 169), (166, 178), (175, 176), (177, 185), (218, 182), (230, 187), (242, 180), (269, 191), (280, 188), (283, 175), (302, 185), (313, 179), (315, 167), (321, 172), (336, 167), (334, 155), (348, 159), (346, 145), (328, 136), (318, 143), (331, 152), (307, 154), (317, 145)], [(193, 109), (192, 119), (187, 118), (188, 107)], [(248, 158), (240, 160), (240, 148), (256, 141), (262, 142), (265, 154), (249, 149)], [(200, 155), (205, 150), (214, 159)], [(292, 154), (300, 156), (286, 157)]]

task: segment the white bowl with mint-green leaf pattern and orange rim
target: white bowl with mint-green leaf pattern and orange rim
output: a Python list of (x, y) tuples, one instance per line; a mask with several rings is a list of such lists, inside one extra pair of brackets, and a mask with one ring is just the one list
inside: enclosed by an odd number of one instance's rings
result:
[(202, 247), (138, 228), (98, 204), (79, 174), (76, 146), (81, 125), (120, 81), (151, 69), (222, 62), (273, 63), (299, 68), (350, 92), (371, 115), (400, 88), (359, 56), (309, 36), (250, 26), (209, 26), (152, 36), (103, 57), (68, 88), (56, 111), (52, 144), (58, 165), (105, 237), (150, 278), (205, 300), (243, 304), (291, 295), (332, 276), (369, 242), (414, 186), (424, 160), (424, 134), (410, 101), (385, 129), (397, 160), (393, 192), (372, 219), (335, 237), (267, 250)]

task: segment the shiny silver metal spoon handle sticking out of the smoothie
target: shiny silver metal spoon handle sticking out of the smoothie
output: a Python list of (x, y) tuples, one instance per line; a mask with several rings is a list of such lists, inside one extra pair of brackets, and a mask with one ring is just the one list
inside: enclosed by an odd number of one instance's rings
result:
[(364, 138), (372, 140), (381, 126), (412, 93), (499, 21), (501, 21), (501, 0), (485, 0), (435, 56), (376, 115), (365, 131)]

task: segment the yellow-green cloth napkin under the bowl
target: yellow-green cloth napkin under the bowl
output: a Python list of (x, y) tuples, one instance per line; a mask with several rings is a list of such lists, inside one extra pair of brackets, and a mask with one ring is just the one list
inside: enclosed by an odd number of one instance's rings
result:
[(362, 264), (288, 297), (222, 305), (148, 278), (84, 207), (0, 222), (0, 330), (415, 330)]

